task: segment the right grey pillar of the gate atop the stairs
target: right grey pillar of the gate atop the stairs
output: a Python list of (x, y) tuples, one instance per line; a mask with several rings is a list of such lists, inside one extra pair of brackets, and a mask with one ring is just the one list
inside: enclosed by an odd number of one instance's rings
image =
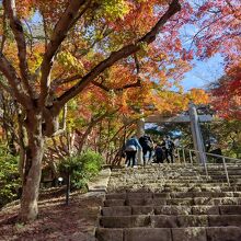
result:
[(200, 133), (197, 111), (193, 103), (190, 103), (188, 112), (190, 112), (191, 130), (193, 135), (194, 148), (197, 152), (198, 161), (204, 165), (207, 162), (207, 157), (204, 149), (204, 141)]

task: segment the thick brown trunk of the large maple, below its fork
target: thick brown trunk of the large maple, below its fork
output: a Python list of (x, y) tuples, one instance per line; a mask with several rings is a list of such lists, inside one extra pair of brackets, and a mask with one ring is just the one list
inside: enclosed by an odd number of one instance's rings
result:
[(37, 200), (42, 173), (45, 138), (42, 135), (42, 116), (34, 114), (27, 118), (27, 147), (21, 209), (19, 218), (23, 222), (34, 220), (38, 214)]

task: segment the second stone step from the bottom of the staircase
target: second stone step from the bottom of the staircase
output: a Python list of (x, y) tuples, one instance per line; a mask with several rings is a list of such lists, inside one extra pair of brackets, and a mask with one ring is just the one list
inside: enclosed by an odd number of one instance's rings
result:
[(187, 228), (187, 227), (241, 227), (241, 215), (131, 215), (102, 216), (103, 228)]

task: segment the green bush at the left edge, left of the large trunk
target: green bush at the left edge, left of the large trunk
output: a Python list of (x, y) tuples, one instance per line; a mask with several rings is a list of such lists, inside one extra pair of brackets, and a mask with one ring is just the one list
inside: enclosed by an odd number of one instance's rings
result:
[(20, 188), (18, 157), (8, 153), (0, 147), (0, 207), (14, 200)]

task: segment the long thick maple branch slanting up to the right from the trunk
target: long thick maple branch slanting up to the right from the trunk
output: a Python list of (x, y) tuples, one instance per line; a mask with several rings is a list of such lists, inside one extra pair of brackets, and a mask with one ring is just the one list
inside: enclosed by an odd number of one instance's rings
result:
[(129, 55), (138, 51), (141, 48), (141, 44), (150, 44), (152, 43), (158, 33), (160, 32), (161, 27), (168, 22), (168, 20), (174, 15), (176, 12), (181, 10), (181, 4), (179, 0), (172, 0), (171, 4), (169, 5), (169, 9), (167, 12), (160, 18), (160, 20), (157, 22), (157, 24), (151, 28), (150, 32), (148, 32), (144, 37), (138, 39), (135, 44), (129, 44), (124, 46), (117, 51), (113, 51), (108, 58), (100, 62), (97, 66), (95, 66), (88, 74), (85, 74), (81, 81), (79, 81), (76, 85), (70, 88), (68, 91), (66, 91), (62, 95), (60, 95), (57, 99), (57, 102), (55, 104), (56, 108), (61, 108), (65, 103), (67, 103), (69, 100), (74, 97), (77, 94), (79, 94), (88, 84), (90, 84), (101, 72), (103, 72), (108, 67), (113, 66), (116, 61), (118, 61), (122, 58), (126, 58)]

